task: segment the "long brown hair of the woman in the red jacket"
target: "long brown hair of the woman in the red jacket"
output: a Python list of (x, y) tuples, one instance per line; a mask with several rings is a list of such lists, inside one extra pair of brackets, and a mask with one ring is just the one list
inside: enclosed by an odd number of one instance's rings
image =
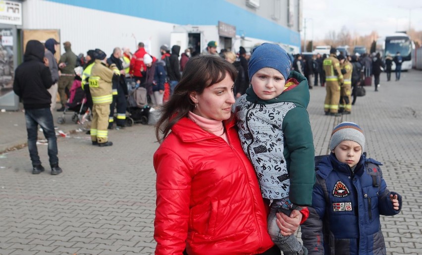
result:
[(224, 80), (227, 73), (233, 81), (236, 80), (236, 68), (220, 56), (200, 55), (189, 59), (173, 95), (159, 110), (161, 117), (156, 124), (157, 141), (161, 143), (173, 125), (194, 109), (195, 104), (189, 97), (192, 92), (202, 94), (205, 88)]

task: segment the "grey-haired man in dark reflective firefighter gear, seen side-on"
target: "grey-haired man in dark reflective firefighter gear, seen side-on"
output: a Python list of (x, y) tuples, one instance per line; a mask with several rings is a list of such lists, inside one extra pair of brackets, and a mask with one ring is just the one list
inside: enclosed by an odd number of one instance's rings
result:
[(123, 61), (120, 59), (122, 51), (120, 48), (114, 48), (113, 54), (107, 58), (107, 64), (114, 64), (117, 67), (118, 73), (113, 76), (113, 102), (110, 104), (110, 115), (108, 116), (108, 129), (113, 129), (114, 123), (114, 106), (116, 107), (116, 126), (117, 128), (124, 128), (126, 120), (126, 96), (128, 94), (125, 70), (123, 69)]

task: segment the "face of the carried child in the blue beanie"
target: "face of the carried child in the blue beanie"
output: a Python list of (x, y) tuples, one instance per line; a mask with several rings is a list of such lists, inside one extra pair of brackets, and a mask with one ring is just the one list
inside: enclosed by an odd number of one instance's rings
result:
[(251, 84), (260, 99), (270, 100), (283, 92), (286, 80), (276, 69), (264, 67), (252, 76)]

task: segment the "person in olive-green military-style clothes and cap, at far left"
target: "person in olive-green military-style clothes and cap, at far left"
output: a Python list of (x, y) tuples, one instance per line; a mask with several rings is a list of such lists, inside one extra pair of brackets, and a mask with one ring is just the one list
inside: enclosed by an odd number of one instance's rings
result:
[[(68, 93), (72, 87), (75, 78), (74, 68), (76, 67), (77, 56), (71, 49), (70, 42), (64, 42), (64, 53), (58, 61), (58, 68), (60, 68), (60, 78), (58, 80), (58, 94), (60, 95), (61, 108), (57, 111), (63, 111), (69, 97)], [(66, 91), (67, 89), (67, 91)]]

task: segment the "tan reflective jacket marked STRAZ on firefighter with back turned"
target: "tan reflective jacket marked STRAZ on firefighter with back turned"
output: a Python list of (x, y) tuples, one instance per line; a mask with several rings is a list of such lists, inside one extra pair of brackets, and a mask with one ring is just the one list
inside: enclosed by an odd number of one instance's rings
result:
[(111, 81), (113, 78), (113, 70), (117, 70), (115, 65), (107, 68), (101, 60), (96, 59), (91, 69), (91, 76), (88, 78), (89, 90), (92, 96), (92, 102), (95, 104), (110, 104), (113, 101), (111, 95)]

